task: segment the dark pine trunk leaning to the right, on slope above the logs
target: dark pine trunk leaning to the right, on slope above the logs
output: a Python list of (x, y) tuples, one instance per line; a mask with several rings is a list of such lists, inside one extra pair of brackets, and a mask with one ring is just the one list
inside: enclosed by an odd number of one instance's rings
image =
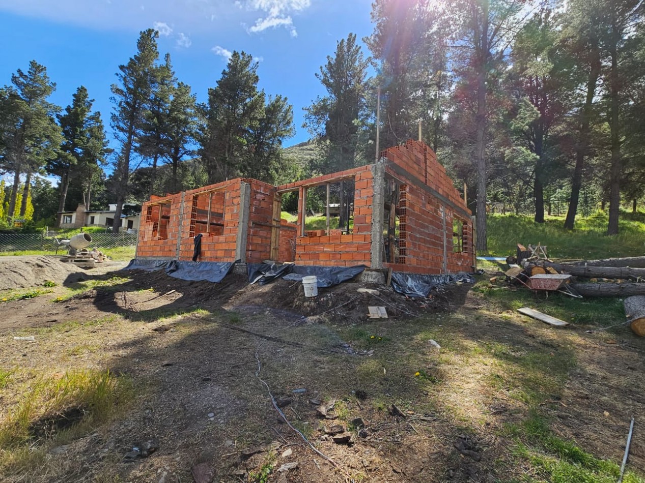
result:
[(593, 57), (591, 57), (589, 79), (587, 81), (587, 96), (584, 101), (584, 107), (582, 108), (580, 138), (575, 149), (575, 167), (573, 169), (573, 178), (571, 179), (571, 198), (569, 199), (569, 209), (564, 220), (564, 228), (567, 230), (573, 230), (573, 225), (575, 224), (575, 216), (580, 201), (580, 189), (582, 187), (584, 156), (586, 156), (589, 149), (591, 106), (593, 105), (593, 97), (596, 95), (596, 86), (600, 77), (600, 53), (597, 42), (591, 44), (590, 55), (593, 55)]

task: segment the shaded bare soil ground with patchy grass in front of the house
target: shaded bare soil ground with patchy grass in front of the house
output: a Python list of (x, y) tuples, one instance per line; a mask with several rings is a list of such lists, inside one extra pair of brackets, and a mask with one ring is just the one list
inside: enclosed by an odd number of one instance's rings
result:
[[(562, 439), (613, 461), (633, 415), (630, 468), (645, 468), (645, 343), (627, 329), (556, 330), (497, 310), (471, 285), (419, 300), (350, 282), (305, 299), (300, 283), (283, 280), (85, 277), (93, 288), (63, 301), (52, 299), (78, 289), (75, 276), (52, 294), (0, 305), (0, 369), (12, 372), (0, 419), (30, 380), (79, 367), (128, 378), (132, 401), (64, 444), (55, 434), (35, 439), (32, 450), (45, 453), (39, 465), (8, 464), (0, 480), (539, 479), (530, 460), (513, 455), (526, 442), (513, 428), (535, 410)], [(368, 319), (371, 305), (390, 318)], [(339, 430), (351, 440), (335, 442)], [(128, 457), (148, 441), (158, 450)], [(286, 463), (297, 465), (280, 471)], [(264, 480), (263, 468), (272, 468)]]

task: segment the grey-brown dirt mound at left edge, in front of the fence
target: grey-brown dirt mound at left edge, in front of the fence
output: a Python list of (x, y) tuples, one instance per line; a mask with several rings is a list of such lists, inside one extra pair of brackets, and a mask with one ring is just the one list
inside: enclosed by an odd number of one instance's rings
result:
[(55, 256), (3, 256), (0, 257), (0, 290), (37, 287), (46, 280), (73, 282), (83, 279), (86, 273)]

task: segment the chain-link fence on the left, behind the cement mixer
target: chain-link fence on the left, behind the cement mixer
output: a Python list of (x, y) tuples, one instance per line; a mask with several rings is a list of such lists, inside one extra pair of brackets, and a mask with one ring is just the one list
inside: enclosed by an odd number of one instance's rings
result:
[[(136, 233), (90, 233), (90, 236), (92, 248), (134, 247), (137, 244)], [(62, 238), (43, 233), (0, 233), (0, 252), (55, 251), (61, 242)]]

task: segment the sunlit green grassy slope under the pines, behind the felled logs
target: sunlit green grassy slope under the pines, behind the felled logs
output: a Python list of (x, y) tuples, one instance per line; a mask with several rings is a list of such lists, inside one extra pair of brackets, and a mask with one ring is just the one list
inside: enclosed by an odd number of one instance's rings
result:
[(490, 256), (515, 254), (517, 243), (542, 243), (552, 258), (610, 258), (640, 256), (645, 238), (645, 213), (620, 213), (619, 234), (607, 236), (608, 214), (598, 212), (579, 217), (575, 229), (563, 228), (564, 217), (551, 216), (534, 223), (530, 216), (488, 215), (487, 234)]

